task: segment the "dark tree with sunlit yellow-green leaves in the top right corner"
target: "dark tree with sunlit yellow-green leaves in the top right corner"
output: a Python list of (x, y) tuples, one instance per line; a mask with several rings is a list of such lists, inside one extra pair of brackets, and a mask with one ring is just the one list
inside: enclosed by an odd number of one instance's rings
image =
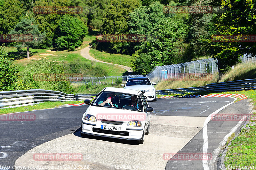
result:
[[(256, 33), (256, 1), (221, 1), (225, 13), (219, 14), (216, 27), (218, 34), (242, 35)], [(214, 58), (218, 59), (220, 71), (227, 71), (239, 62), (244, 53), (256, 56), (256, 44), (252, 42), (215, 42)]]

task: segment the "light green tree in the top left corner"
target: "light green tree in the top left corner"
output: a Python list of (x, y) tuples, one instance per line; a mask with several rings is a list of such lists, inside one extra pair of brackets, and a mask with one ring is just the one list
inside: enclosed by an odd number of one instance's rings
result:
[(0, 0), (0, 34), (9, 33), (21, 20), (24, 9), (18, 0)]

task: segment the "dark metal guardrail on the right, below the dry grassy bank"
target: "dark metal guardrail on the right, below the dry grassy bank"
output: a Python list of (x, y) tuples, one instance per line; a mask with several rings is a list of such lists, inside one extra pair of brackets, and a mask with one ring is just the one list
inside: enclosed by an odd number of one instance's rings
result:
[(237, 81), (228, 81), (222, 83), (212, 83), (202, 87), (189, 87), (180, 89), (157, 90), (157, 95), (165, 94), (185, 94), (196, 92), (227, 92), (236, 90), (256, 90), (256, 79), (246, 79)]

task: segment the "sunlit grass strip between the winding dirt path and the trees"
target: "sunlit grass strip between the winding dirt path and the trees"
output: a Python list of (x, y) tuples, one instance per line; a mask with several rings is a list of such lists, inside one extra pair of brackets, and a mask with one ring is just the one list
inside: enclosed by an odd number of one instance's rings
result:
[(100, 61), (108, 62), (108, 63), (114, 63), (114, 64), (120, 64), (124, 66), (130, 65), (131, 57), (130, 55), (124, 55), (124, 54), (109, 54), (107, 52), (100, 52), (96, 49), (90, 49), (89, 51), (90, 55)]

